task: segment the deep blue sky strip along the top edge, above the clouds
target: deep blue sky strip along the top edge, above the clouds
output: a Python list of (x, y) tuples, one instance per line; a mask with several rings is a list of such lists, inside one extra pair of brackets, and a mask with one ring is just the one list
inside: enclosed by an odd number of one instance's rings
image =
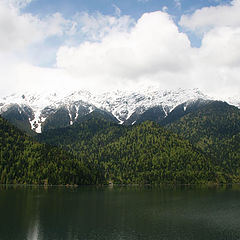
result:
[[(115, 16), (118, 10), (121, 15), (128, 15), (136, 21), (146, 12), (162, 11), (167, 7), (167, 12), (173, 17), (176, 24), (183, 14), (191, 14), (197, 9), (209, 6), (229, 4), (230, 0), (33, 0), (22, 11), (44, 18), (55, 12), (61, 13), (65, 18), (72, 18), (78, 13), (87, 12), (90, 15), (100, 12), (103, 15)], [(184, 31), (184, 29), (181, 29)], [(199, 47), (201, 38), (187, 32), (192, 46)], [(53, 39), (46, 44), (61, 44), (61, 39)], [(63, 39), (62, 39), (63, 40)], [(44, 63), (43, 63), (44, 64)], [(48, 64), (48, 63), (47, 63)]]

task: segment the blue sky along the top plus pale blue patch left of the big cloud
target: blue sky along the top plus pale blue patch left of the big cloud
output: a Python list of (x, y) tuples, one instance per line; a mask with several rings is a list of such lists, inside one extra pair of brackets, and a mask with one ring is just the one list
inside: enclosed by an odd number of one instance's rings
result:
[[(109, 16), (120, 14), (122, 16), (130, 16), (137, 21), (146, 12), (162, 11), (166, 8), (166, 11), (178, 25), (183, 14), (191, 14), (203, 7), (224, 5), (230, 2), (229, 0), (32, 0), (25, 8), (21, 9), (21, 12), (37, 15), (40, 18), (45, 18), (58, 12), (66, 19), (72, 19), (76, 14), (83, 13), (88, 13), (92, 16), (96, 15), (96, 13)], [(181, 26), (178, 25), (178, 27), (180, 31), (185, 31)], [(193, 47), (201, 45), (201, 35), (199, 36), (189, 31), (185, 32)], [(36, 59), (35, 55), (39, 56), (45, 54), (44, 51), (50, 51), (52, 53), (51, 56), (48, 56), (47, 59), (44, 56), (41, 57), (44, 60), (38, 61), (36, 64), (39, 66), (53, 66), (55, 64), (55, 52), (67, 40), (68, 37), (66, 36), (53, 36), (39, 44), (38, 47), (34, 46), (31, 48), (31, 52), (34, 55), (32, 61)], [(76, 40), (72, 40), (71, 44), (78, 44), (85, 40), (89, 39), (86, 36), (79, 36), (78, 34)], [(35, 53), (36, 50), (37, 53)]]

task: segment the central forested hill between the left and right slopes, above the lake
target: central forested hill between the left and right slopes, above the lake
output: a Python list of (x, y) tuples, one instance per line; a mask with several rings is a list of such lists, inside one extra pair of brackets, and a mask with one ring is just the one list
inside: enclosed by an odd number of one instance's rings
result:
[(95, 116), (37, 136), (79, 156), (114, 183), (206, 183), (218, 181), (213, 162), (189, 141), (147, 121), (124, 126)]

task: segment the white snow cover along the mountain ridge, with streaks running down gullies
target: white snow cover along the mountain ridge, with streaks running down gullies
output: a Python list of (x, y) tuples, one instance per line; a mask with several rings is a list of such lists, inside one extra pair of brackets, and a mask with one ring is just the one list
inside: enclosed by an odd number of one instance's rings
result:
[[(34, 118), (29, 119), (32, 129), (41, 132), (41, 125), (48, 114), (64, 107), (69, 112), (72, 124), (79, 114), (79, 106), (88, 109), (88, 113), (95, 108), (108, 111), (123, 123), (135, 112), (144, 113), (149, 108), (162, 106), (167, 115), (176, 106), (197, 99), (210, 99), (199, 89), (162, 90), (157, 87), (148, 87), (139, 91), (113, 91), (101, 94), (93, 94), (80, 90), (70, 94), (59, 93), (17, 93), (0, 99), (0, 113), (6, 111), (11, 104), (29, 106)], [(48, 113), (46, 109), (51, 109)], [(72, 111), (74, 109), (74, 115)]]

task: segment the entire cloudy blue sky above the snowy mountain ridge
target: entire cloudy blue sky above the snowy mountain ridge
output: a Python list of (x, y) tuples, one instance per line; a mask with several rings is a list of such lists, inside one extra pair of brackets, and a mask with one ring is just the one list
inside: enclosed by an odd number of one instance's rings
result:
[(0, 85), (239, 96), (240, 0), (0, 0)]

